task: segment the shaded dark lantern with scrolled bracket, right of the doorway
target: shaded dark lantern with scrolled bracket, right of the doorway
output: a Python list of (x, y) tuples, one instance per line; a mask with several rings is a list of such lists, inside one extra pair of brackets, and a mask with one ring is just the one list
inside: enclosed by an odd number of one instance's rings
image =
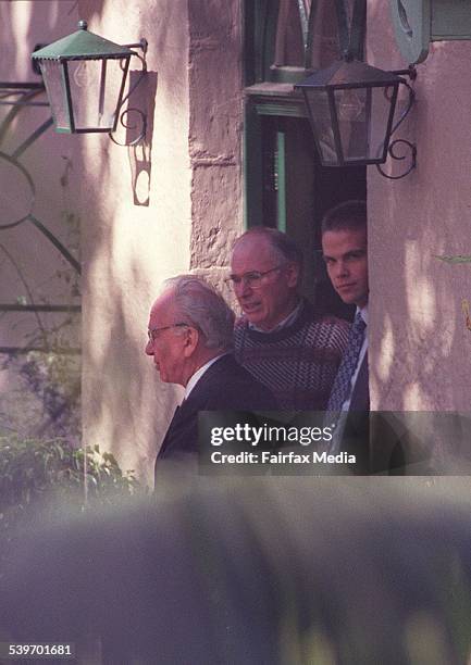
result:
[[(402, 139), (391, 143), (391, 135), (406, 117), (414, 99), (413, 90), (400, 74), (411, 78), (416, 76), (413, 68), (384, 72), (346, 55), (295, 85), (305, 97), (324, 166), (379, 165), (388, 154), (404, 159), (394, 152), (394, 145), (402, 142), (411, 149), (411, 165), (407, 173), (414, 168), (416, 147)], [(409, 90), (409, 103), (394, 125), (400, 85)], [(381, 173), (386, 175), (383, 171)], [(396, 179), (407, 173), (387, 177)]]

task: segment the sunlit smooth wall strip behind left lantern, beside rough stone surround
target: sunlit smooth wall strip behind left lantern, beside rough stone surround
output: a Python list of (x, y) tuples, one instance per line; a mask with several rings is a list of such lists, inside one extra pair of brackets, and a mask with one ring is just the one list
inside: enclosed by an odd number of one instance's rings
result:
[[(148, 113), (146, 145), (77, 138), (85, 219), (84, 441), (111, 450), (124, 468), (150, 480), (176, 390), (160, 384), (145, 356), (148, 312), (161, 281), (189, 265), (187, 3), (80, 0), (78, 13), (90, 30), (117, 43), (149, 41), (149, 76), (131, 103)], [(140, 66), (135, 61), (131, 68)], [(116, 139), (126, 139), (122, 128)], [(136, 191), (138, 170), (145, 173)]]

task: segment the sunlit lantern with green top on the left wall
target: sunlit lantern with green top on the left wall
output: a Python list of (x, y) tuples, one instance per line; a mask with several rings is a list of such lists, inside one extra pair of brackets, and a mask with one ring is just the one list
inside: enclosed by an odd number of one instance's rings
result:
[[(131, 57), (137, 55), (129, 47), (145, 52), (147, 41), (120, 46), (89, 33), (85, 21), (78, 28), (35, 51), (32, 58), (40, 66), (57, 131), (111, 133), (125, 101)], [(144, 60), (137, 57), (145, 71)]]

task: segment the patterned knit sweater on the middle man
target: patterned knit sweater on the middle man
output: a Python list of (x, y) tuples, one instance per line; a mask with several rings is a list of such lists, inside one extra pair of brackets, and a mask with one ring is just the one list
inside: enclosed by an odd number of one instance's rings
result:
[(296, 321), (275, 332), (236, 322), (236, 360), (275, 396), (284, 411), (323, 411), (347, 346), (349, 324), (318, 317), (308, 301)]

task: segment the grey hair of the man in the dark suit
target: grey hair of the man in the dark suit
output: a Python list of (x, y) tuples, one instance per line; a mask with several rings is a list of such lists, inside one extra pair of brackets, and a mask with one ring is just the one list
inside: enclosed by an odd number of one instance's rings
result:
[(226, 351), (232, 348), (235, 314), (204, 279), (196, 275), (178, 275), (165, 279), (164, 290), (173, 291), (182, 323), (200, 330), (207, 349)]

